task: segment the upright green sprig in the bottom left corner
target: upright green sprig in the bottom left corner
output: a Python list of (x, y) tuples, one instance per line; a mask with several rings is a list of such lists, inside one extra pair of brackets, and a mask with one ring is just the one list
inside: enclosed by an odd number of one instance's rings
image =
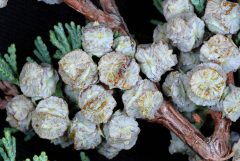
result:
[(11, 129), (4, 129), (4, 137), (0, 140), (0, 156), (4, 161), (15, 161), (16, 158), (16, 139), (11, 132)]

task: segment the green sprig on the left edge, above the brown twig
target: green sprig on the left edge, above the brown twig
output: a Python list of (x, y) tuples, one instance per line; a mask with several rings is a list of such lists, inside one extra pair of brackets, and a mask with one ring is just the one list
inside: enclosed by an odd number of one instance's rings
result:
[(0, 80), (8, 81), (18, 85), (16, 47), (14, 44), (8, 48), (8, 53), (4, 57), (0, 56)]

